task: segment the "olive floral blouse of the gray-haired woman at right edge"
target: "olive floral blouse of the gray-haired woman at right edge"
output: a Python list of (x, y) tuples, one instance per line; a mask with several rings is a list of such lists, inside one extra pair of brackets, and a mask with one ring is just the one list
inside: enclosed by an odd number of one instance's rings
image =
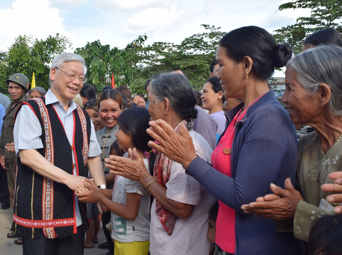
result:
[[(294, 236), (304, 241), (308, 241), (310, 226), (317, 218), (324, 214), (332, 214), (318, 207), (321, 199), (326, 199), (328, 195), (333, 194), (322, 191), (321, 185), (333, 183), (328, 175), (332, 172), (342, 171), (342, 141), (334, 144), (326, 154), (320, 145), (320, 139), (316, 132), (304, 135), (299, 139), (296, 189), (301, 191), (305, 202), (298, 203), (293, 225), (285, 220), (279, 220), (276, 223), (278, 231), (293, 230)], [(319, 181), (317, 181), (317, 177)], [(292, 227), (293, 229), (291, 229)]]

